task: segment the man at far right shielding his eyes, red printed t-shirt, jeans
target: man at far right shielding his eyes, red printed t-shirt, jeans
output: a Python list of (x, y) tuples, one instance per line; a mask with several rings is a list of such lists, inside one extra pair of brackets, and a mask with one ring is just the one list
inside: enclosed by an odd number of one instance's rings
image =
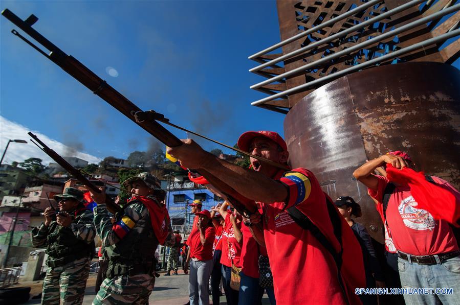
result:
[[(408, 185), (396, 183), (384, 213), (383, 196), (389, 180), (374, 175), (376, 168), (390, 164), (397, 169), (413, 167), (411, 158), (396, 151), (364, 163), (353, 175), (368, 187), (376, 208), (398, 251), (398, 269), (403, 288), (452, 288), (454, 294), (404, 294), (407, 304), (454, 304), (460, 293), (460, 251), (447, 221), (436, 220), (414, 200)], [(457, 200), (460, 193), (446, 181), (431, 177)], [(413, 197), (413, 196), (414, 197)], [(439, 202), (437, 204), (443, 204)], [(385, 214), (385, 216), (384, 216)]]

